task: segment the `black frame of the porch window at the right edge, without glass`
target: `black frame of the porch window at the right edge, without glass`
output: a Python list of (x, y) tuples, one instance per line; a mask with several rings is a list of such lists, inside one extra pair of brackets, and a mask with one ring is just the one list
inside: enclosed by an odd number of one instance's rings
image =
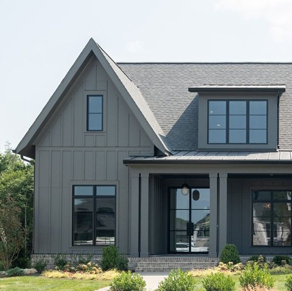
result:
[[(257, 200), (254, 201), (253, 199), (253, 193), (256, 191), (269, 191), (271, 192), (271, 198), (270, 199), (263, 199), (263, 200)], [(274, 216), (274, 204), (275, 203), (290, 203), (292, 206), (292, 197), (291, 199), (274, 199), (274, 192), (277, 191), (290, 191), (292, 192), (291, 189), (286, 190), (286, 189), (258, 189), (258, 190), (252, 190), (251, 191), (251, 246), (252, 247), (291, 247), (292, 246), (292, 238), (290, 238), (290, 244), (289, 245), (274, 245), (274, 234), (275, 234), (275, 227), (274, 227), (274, 218), (277, 216)], [(254, 225), (253, 225), (253, 218), (257, 217), (257, 216), (253, 216), (253, 204), (254, 203), (270, 203), (271, 204), (271, 217), (270, 217), (270, 221), (268, 222), (270, 224), (270, 244), (269, 245), (255, 245), (253, 244), (253, 234), (254, 234)], [(288, 216), (287, 216), (288, 217)], [(292, 209), (290, 211), (290, 234), (292, 234)]]

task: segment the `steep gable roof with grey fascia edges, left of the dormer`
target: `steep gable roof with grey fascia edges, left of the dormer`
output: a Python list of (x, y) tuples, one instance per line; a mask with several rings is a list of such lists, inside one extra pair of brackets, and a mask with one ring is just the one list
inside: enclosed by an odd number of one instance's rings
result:
[(59, 99), (71, 85), (72, 80), (92, 53), (96, 56), (106, 73), (112, 79), (113, 83), (124, 97), (126, 103), (140, 122), (143, 130), (148, 134), (153, 144), (164, 154), (170, 154), (171, 147), (141, 92), (133, 84), (131, 79), (129, 79), (129, 77), (119, 68), (119, 66), (99, 47), (98, 44), (95, 43), (93, 38), (88, 41), (75, 63), (61, 81), (61, 84), (16, 147), (15, 152), (34, 158), (33, 139), (38, 135), (40, 129), (47, 121), (48, 115), (60, 101)]

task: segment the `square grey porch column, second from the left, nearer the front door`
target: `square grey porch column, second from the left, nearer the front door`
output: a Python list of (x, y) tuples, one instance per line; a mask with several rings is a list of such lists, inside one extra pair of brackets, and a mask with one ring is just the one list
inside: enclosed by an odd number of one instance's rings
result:
[(140, 257), (149, 257), (149, 174), (141, 173)]

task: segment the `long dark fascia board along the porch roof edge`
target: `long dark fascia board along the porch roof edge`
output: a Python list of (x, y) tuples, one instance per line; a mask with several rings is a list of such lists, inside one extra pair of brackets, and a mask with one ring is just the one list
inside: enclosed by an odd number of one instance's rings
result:
[(292, 164), (292, 160), (167, 160), (167, 159), (148, 159), (148, 160), (139, 160), (139, 159), (124, 159), (123, 163), (125, 165), (131, 164)]

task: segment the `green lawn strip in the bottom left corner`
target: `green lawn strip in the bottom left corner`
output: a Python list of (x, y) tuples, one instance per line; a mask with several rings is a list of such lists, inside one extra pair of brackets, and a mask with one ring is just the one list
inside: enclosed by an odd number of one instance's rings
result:
[(109, 281), (51, 279), (39, 276), (0, 279), (0, 291), (93, 291), (109, 285)]

